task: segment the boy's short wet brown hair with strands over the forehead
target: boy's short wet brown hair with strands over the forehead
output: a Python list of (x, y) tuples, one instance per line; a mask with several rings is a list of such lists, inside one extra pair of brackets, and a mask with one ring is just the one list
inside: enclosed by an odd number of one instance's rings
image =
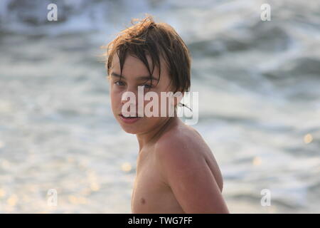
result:
[[(134, 21), (138, 21), (134, 24)], [(169, 72), (170, 85), (177, 91), (188, 92), (191, 82), (191, 56), (182, 38), (176, 33), (174, 28), (166, 23), (155, 23), (150, 15), (142, 20), (132, 19), (132, 26), (125, 28), (118, 33), (113, 41), (107, 44), (106, 68), (107, 74), (110, 75), (112, 59), (117, 53), (120, 63), (120, 79), (122, 69), (127, 54), (139, 58), (150, 73), (152, 82), (152, 73), (154, 67), (159, 68), (159, 79), (161, 74), (160, 58), (164, 59), (164, 63)], [(152, 71), (147, 61), (146, 55), (151, 57)]]

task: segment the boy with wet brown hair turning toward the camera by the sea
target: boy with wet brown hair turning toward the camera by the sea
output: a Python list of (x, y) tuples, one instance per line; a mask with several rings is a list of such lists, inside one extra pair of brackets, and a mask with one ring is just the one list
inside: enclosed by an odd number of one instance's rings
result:
[[(106, 65), (114, 117), (139, 142), (132, 213), (229, 213), (215, 157), (178, 118), (178, 102), (171, 103), (174, 115), (149, 117), (141, 113), (149, 102), (136, 100), (139, 86), (159, 98), (161, 92), (189, 90), (191, 57), (174, 28), (146, 16), (108, 44)], [(124, 93), (136, 97), (127, 101)]]

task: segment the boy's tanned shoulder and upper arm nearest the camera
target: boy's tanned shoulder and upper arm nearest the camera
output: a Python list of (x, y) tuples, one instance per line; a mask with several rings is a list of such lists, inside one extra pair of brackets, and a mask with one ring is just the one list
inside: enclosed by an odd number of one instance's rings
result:
[(173, 128), (156, 142), (162, 175), (186, 213), (228, 213), (220, 170), (210, 148), (191, 128)]

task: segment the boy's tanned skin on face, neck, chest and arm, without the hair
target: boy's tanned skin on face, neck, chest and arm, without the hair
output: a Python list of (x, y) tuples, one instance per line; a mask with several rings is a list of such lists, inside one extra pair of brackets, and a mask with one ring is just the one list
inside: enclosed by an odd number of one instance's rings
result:
[[(149, 66), (151, 59), (147, 56)], [(112, 74), (115, 73), (115, 74)], [(139, 58), (128, 55), (119, 75), (119, 58), (114, 56), (110, 68), (110, 99), (112, 111), (122, 129), (137, 135), (139, 155), (137, 173), (132, 191), (132, 213), (229, 213), (223, 199), (223, 177), (218, 163), (201, 135), (174, 117), (143, 117), (135, 123), (124, 123), (119, 114), (122, 93), (132, 91), (137, 95), (137, 86), (147, 85), (138, 79), (149, 75)], [(152, 74), (159, 79), (159, 69)], [(169, 73), (161, 60), (161, 77), (150, 90), (173, 91)], [(144, 101), (144, 105), (149, 101)]]

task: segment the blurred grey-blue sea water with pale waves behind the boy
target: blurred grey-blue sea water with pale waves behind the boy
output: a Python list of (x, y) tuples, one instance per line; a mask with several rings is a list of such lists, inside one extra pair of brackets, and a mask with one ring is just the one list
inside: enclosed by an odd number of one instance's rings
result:
[(320, 212), (319, 1), (65, 0), (56, 22), (50, 3), (0, 2), (0, 213), (131, 212), (138, 144), (113, 118), (100, 46), (144, 13), (191, 50), (193, 128), (230, 212)]

